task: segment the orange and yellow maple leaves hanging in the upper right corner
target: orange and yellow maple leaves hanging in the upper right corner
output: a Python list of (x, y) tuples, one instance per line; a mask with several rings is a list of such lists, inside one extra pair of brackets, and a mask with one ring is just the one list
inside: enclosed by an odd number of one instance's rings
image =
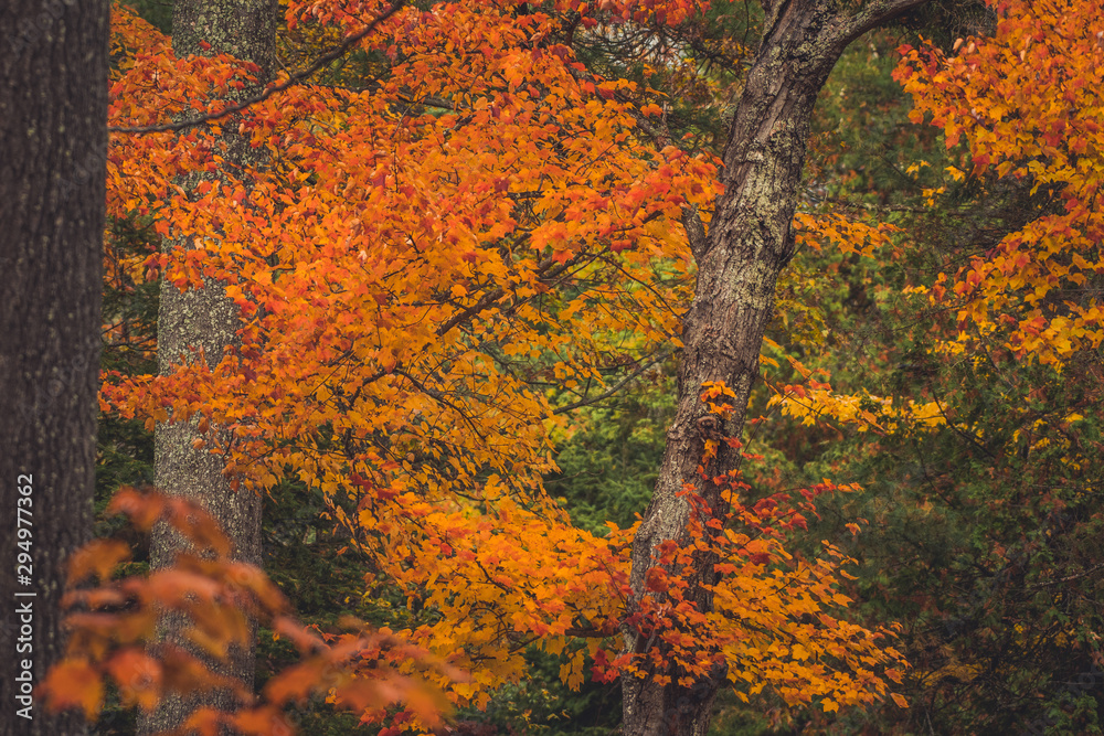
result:
[(1017, 356), (1061, 364), (1104, 340), (1094, 284), (1104, 274), (1097, 151), (1104, 30), (1086, 2), (991, 3), (992, 39), (960, 40), (954, 55), (905, 47), (896, 77), (912, 93), (912, 117), (931, 117), (948, 149), (969, 151), (955, 180), (995, 171), (1030, 183), (1053, 209), (1006, 235), (997, 247), (941, 276), (933, 299), (957, 300), (960, 352), (1001, 335)]

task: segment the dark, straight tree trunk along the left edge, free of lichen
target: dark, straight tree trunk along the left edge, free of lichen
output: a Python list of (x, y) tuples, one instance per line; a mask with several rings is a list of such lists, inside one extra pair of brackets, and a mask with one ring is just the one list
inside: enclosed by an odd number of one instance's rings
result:
[(92, 532), (108, 3), (0, 3), (0, 733), (85, 733), (32, 689), (65, 652), (65, 558)]

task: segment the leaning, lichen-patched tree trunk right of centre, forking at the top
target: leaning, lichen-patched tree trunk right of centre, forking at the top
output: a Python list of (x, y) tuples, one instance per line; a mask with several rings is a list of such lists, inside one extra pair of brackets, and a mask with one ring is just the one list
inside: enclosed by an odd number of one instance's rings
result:
[[(677, 494), (683, 484), (698, 488), (713, 518), (728, 509), (720, 489), (699, 482), (704, 439), (721, 431), (739, 437), (747, 399), (758, 375), (763, 332), (774, 309), (775, 281), (793, 256), (790, 223), (805, 162), (813, 107), (820, 87), (847, 45), (868, 30), (919, 7), (925, 0), (866, 2), (856, 11), (839, 1), (773, 0), (764, 2), (762, 44), (729, 131), (724, 193), (716, 203), (708, 236), (692, 238), (698, 264), (693, 303), (682, 323), (679, 404), (667, 431), (667, 449), (651, 503), (633, 544), (630, 584), (634, 605), (645, 591), (652, 553), (665, 540), (683, 540), (690, 506)], [(693, 228), (688, 228), (692, 231)], [(692, 232), (691, 232), (692, 236)], [(725, 426), (699, 399), (702, 383), (723, 381), (736, 397)], [(721, 444), (710, 468), (722, 474), (740, 466), (739, 450)], [(696, 563), (694, 580), (713, 584), (713, 561)], [(712, 600), (697, 587), (693, 599), (708, 611)], [(626, 628), (626, 651), (644, 652), (648, 637)], [(709, 642), (702, 657), (712, 657)], [(628, 736), (704, 736), (716, 691), (728, 663), (718, 662), (710, 678), (662, 685), (655, 678), (622, 676), (624, 733)], [(678, 674), (678, 673), (671, 673)]]

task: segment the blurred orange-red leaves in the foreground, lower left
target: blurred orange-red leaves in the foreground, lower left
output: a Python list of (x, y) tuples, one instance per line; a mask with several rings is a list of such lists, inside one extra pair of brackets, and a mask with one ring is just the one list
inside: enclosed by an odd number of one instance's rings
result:
[[(129, 558), (125, 542), (97, 540), (72, 556), (63, 600), (72, 610), (66, 619), (68, 655), (43, 683), (51, 707), (81, 707), (94, 718), (109, 683), (125, 706), (147, 711), (170, 694), (225, 689), (241, 707), (234, 713), (198, 710), (182, 725), (184, 733), (213, 735), (231, 727), (240, 734), (290, 734), (285, 708), (311, 695), (357, 713), (379, 713), (401, 702), (401, 716), (432, 727), (440, 723), (447, 701), (422, 671), (436, 669), (438, 678), (466, 680), (386, 630), (305, 630), (262, 570), (230, 558), (230, 541), (217, 523), (190, 501), (124, 488), (108, 512), (126, 514), (140, 532), (169, 524), (190, 551), (179, 553), (171, 567), (121, 579), (115, 570)], [(167, 614), (185, 617), (183, 636), (197, 653), (167, 641), (148, 647), (157, 639), (158, 619)], [(300, 654), (299, 663), (270, 680), (259, 696), (211, 666), (225, 660), (231, 648), (248, 647), (250, 619), (288, 638)]]

